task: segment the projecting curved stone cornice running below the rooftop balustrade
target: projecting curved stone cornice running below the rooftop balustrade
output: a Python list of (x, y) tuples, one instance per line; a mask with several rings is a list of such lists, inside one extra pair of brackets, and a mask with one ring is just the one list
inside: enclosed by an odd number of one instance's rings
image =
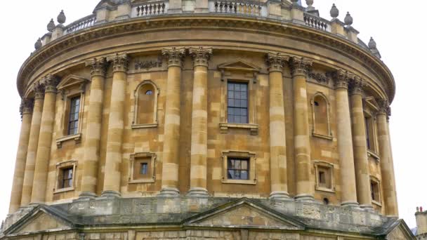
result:
[[(373, 73), (379, 74), (379, 79), (382, 81), (382, 87), (386, 88), (386, 94), (390, 102), (395, 94), (395, 82), (393, 75), (388, 67), (372, 53), (358, 46), (357, 44), (343, 39), (329, 32), (320, 31), (311, 27), (297, 25), (283, 20), (272, 20), (267, 18), (250, 18), (243, 16), (228, 16), (228, 15), (162, 15), (147, 18), (131, 18), (117, 22), (107, 22), (105, 24), (96, 25), (88, 29), (81, 30), (72, 34), (67, 34), (60, 39), (56, 39), (46, 46), (43, 46), (39, 51), (33, 53), (22, 65), (18, 74), (18, 91), (23, 95), (25, 85), (29, 80), (29, 76), (34, 74), (36, 69), (39, 69), (44, 63), (55, 56), (64, 53), (71, 48), (88, 44), (93, 41), (99, 41), (103, 38), (111, 38), (126, 34), (134, 34), (136, 32), (145, 32), (154, 29), (180, 29), (188, 27), (203, 27), (211, 29), (241, 29), (244, 31), (254, 31), (264, 34), (279, 34), (287, 35), (291, 38), (306, 39), (307, 41), (315, 40), (315, 44), (320, 44), (324, 47), (334, 49), (346, 54), (349, 58), (358, 60), (368, 69), (372, 69)], [(314, 44), (314, 43), (313, 43)]]

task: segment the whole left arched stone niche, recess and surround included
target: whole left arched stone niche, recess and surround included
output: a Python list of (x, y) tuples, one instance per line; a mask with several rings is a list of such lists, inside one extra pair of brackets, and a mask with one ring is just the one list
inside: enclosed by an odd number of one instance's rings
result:
[(150, 80), (145, 80), (135, 90), (135, 116), (133, 128), (157, 126), (157, 95), (159, 89)]

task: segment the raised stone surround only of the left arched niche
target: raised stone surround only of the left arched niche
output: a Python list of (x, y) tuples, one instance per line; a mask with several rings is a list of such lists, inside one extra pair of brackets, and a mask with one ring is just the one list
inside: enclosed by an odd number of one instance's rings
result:
[[(138, 124), (138, 102), (139, 102), (139, 91), (140, 88), (142, 88), (143, 86), (150, 84), (153, 87), (153, 93), (152, 95), (154, 96), (154, 111), (153, 111), (153, 122), (150, 124)], [(157, 119), (157, 101), (159, 99), (159, 94), (160, 94), (160, 88), (157, 87), (157, 85), (151, 81), (151, 80), (144, 80), (141, 81), (138, 86), (136, 86), (135, 91), (133, 91), (133, 121), (132, 121), (132, 128), (133, 129), (138, 129), (138, 128), (157, 128), (158, 126), (158, 119)]]

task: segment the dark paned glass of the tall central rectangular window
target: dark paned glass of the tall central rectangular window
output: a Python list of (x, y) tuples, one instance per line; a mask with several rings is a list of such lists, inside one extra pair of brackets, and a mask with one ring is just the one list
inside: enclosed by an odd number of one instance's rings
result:
[(228, 122), (248, 123), (248, 84), (228, 82)]

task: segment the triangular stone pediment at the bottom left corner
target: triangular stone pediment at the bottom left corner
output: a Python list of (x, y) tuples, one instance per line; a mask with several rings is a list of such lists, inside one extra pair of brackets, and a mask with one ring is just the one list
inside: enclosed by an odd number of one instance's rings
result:
[(30, 232), (53, 232), (73, 229), (74, 224), (63, 213), (39, 206), (6, 229), (6, 235), (20, 235)]

